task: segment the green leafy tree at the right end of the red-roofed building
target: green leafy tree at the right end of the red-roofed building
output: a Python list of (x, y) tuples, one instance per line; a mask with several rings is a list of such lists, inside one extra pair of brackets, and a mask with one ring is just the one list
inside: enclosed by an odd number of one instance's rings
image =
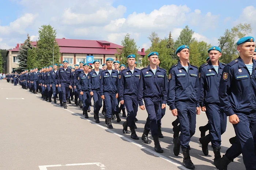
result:
[(135, 54), (136, 61), (138, 60), (138, 49), (136, 46), (136, 42), (133, 38), (130, 37), (130, 34), (126, 34), (124, 39), (121, 41), (123, 49), (117, 48), (117, 53), (115, 54), (117, 58), (119, 58), (121, 64), (127, 65), (127, 56), (130, 54)]

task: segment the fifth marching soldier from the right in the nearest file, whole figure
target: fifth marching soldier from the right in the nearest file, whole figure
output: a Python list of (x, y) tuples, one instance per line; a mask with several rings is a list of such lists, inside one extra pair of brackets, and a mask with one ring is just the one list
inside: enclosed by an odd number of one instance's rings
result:
[[(120, 97), (121, 105), (125, 104), (127, 108), (127, 119), (123, 123), (123, 133), (127, 134), (128, 126), (131, 130), (131, 138), (139, 140), (139, 137), (135, 132), (135, 121), (134, 118), (138, 112), (138, 85), (140, 78), (140, 70), (134, 67), (135, 55), (131, 54), (127, 56), (128, 68), (123, 69), (118, 75), (118, 96)], [(121, 65), (125, 66), (125, 65)], [(120, 66), (120, 67), (121, 67)], [(121, 107), (121, 106), (120, 106)]]

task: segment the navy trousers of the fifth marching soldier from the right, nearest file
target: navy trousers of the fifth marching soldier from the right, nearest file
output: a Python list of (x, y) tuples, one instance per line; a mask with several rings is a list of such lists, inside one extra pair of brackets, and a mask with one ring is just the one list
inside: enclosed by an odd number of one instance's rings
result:
[(135, 121), (134, 118), (137, 116), (138, 112), (138, 100), (137, 100), (137, 95), (124, 95), (124, 105), (127, 110), (127, 118), (126, 120), (128, 121), (128, 126), (129, 127), (134, 127), (135, 126)]

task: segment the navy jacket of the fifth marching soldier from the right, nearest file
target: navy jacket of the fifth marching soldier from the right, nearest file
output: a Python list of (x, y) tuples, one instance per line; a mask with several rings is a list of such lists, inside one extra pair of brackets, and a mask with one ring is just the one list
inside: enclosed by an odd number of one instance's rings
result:
[(133, 74), (128, 68), (121, 70), (118, 75), (118, 97), (124, 100), (124, 95), (137, 95), (140, 69), (134, 68)]

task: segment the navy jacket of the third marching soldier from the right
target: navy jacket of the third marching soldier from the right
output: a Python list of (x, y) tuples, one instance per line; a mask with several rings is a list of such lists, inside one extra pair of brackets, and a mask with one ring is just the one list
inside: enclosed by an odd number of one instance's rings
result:
[(200, 83), (197, 67), (188, 63), (188, 73), (180, 61), (169, 70), (168, 75), (168, 100), (170, 108), (176, 109), (177, 101), (200, 103)]

